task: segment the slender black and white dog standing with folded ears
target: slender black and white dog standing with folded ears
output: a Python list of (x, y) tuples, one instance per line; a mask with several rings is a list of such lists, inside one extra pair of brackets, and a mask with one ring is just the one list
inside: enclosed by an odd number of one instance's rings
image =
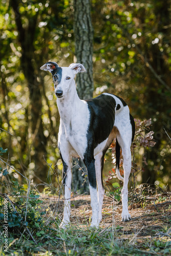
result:
[[(63, 163), (65, 187), (65, 207), (60, 226), (65, 228), (70, 222), (72, 157), (80, 157), (87, 167), (92, 207), (91, 226), (99, 226), (104, 196), (102, 184), (104, 155), (115, 136), (116, 173), (118, 179), (123, 181), (122, 221), (131, 220), (127, 208), (127, 184), (132, 166), (130, 147), (134, 139), (135, 123), (129, 107), (120, 97), (109, 93), (103, 93), (94, 99), (79, 99), (74, 77), (79, 72), (86, 72), (79, 63), (72, 63), (69, 67), (59, 67), (56, 62), (47, 62), (40, 69), (52, 74), (60, 114), (58, 148)], [(119, 173), (120, 147), (123, 155), (124, 179)]]

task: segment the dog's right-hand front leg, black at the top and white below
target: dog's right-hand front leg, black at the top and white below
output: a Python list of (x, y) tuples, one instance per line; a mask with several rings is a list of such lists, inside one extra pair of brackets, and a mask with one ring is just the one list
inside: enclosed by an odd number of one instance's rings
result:
[(90, 196), (91, 196), (91, 207), (92, 207), (92, 222), (91, 227), (99, 226), (99, 204), (97, 197), (97, 185), (96, 185), (96, 171), (95, 171), (95, 159), (85, 159), (84, 163), (88, 170), (89, 177), (89, 187), (90, 187)]

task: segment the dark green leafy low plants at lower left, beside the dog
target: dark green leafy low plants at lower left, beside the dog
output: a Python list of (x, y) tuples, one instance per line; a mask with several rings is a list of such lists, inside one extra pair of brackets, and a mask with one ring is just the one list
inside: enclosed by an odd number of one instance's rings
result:
[[(41, 237), (45, 233), (46, 225), (42, 218), (45, 216), (46, 211), (41, 210), (42, 200), (39, 195), (35, 195), (35, 191), (31, 190), (29, 200), (26, 202), (25, 196), (27, 188), (20, 186), (17, 181), (12, 182), (12, 197), (17, 198), (15, 201), (16, 210), (8, 203), (8, 226), (13, 233), (22, 231), (25, 227), (34, 232), (34, 236)], [(24, 196), (24, 197), (22, 197)], [(27, 204), (27, 208), (26, 208)], [(3, 214), (3, 200), (1, 198), (1, 223), (4, 221), (5, 214)], [(27, 212), (26, 212), (27, 210)], [(27, 216), (27, 219), (25, 219)]]

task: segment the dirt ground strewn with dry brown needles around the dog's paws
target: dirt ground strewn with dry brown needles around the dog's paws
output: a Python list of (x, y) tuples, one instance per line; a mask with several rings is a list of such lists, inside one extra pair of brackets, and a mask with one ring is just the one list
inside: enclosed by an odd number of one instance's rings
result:
[[(140, 194), (138, 191), (136, 195), (134, 191), (129, 200), (129, 211), (132, 217), (129, 222), (121, 221), (121, 202), (114, 202), (112, 197), (104, 196), (100, 227), (103, 230), (113, 227), (116, 236), (124, 235), (124, 239), (129, 239), (133, 234), (136, 234), (136, 238), (139, 239), (157, 238), (166, 231), (168, 238), (171, 238), (171, 193), (162, 192), (147, 196)], [(73, 225), (86, 227), (90, 224), (92, 216), (90, 201), (89, 195), (77, 196), (71, 200)], [(62, 207), (60, 207), (59, 216), (62, 217)]]

